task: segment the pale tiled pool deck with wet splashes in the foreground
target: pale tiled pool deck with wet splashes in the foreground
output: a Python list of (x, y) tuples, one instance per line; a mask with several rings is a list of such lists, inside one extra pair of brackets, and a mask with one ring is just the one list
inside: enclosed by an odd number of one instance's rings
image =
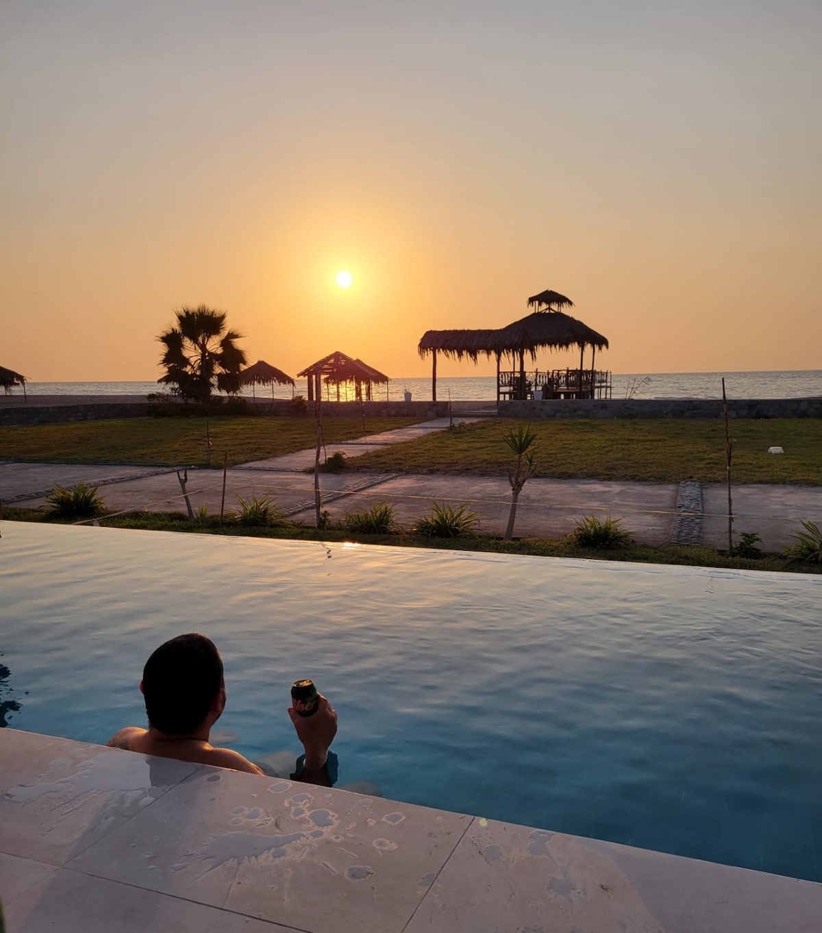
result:
[(822, 929), (822, 884), (11, 729), (0, 896), (8, 933)]

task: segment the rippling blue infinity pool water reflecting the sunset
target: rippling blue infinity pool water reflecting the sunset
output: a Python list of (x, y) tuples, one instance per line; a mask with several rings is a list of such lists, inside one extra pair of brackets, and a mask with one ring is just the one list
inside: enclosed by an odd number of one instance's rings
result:
[[(223, 654), (226, 744), (340, 786), (822, 880), (822, 578), (0, 522), (9, 725), (145, 724), (150, 652)], [(277, 753), (280, 753), (279, 755)]]

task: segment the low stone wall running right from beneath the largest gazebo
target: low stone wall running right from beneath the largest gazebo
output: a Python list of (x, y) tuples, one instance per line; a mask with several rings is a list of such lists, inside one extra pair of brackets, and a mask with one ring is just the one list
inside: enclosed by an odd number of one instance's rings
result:
[[(507, 418), (721, 418), (720, 399), (565, 398), (506, 401), (497, 406)], [(822, 397), (729, 399), (731, 418), (822, 418)]]

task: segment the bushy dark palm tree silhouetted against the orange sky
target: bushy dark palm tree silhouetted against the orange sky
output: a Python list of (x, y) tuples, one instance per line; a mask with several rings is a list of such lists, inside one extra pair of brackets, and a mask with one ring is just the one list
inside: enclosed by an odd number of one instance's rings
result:
[(176, 327), (169, 327), (158, 337), (165, 346), (160, 360), (165, 375), (158, 382), (171, 385), (177, 395), (201, 402), (215, 390), (231, 395), (239, 392), (240, 370), (246, 359), (235, 343), (242, 335), (226, 329), (226, 313), (204, 304), (184, 306), (174, 313)]

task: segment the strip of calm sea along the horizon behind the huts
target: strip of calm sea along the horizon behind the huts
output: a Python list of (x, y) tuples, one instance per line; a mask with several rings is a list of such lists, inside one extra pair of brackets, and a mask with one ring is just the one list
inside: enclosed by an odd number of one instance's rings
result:
[[(803, 398), (822, 396), (822, 369), (771, 370), (761, 372), (652, 372), (615, 373), (613, 376), (614, 398), (721, 398), (722, 378), (729, 398)], [(155, 382), (133, 383), (27, 383), (26, 392), (31, 396), (145, 396), (159, 391)], [(344, 387), (343, 387), (344, 389)], [(294, 389), (297, 394), (307, 395), (305, 380), (298, 380)], [(374, 398), (400, 400), (405, 392), (411, 397), (425, 400), (431, 397), (430, 377), (408, 377), (392, 379), (387, 385), (374, 387)], [(269, 386), (257, 386), (255, 393), (260, 398), (271, 398)], [(251, 397), (251, 388), (243, 395)], [(22, 395), (15, 388), (14, 395)], [(275, 398), (290, 398), (290, 385), (275, 385)], [(331, 390), (329, 398), (336, 398)], [(343, 391), (344, 397), (344, 391)], [(494, 376), (444, 377), (437, 380), (437, 397), (440, 401), (494, 401)]]

